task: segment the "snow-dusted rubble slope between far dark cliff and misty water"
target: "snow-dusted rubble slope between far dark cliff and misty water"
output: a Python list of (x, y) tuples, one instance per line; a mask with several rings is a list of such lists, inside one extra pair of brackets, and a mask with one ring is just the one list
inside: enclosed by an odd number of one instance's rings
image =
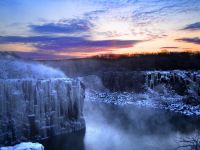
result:
[(200, 117), (200, 105), (192, 106), (184, 104), (183, 96), (174, 93), (165, 95), (159, 94), (152, 90), (145, 93), (131, 92), (97, 92), (94, 90), (86, 91), (86, 100), (112, 103), (115, 105), (134, 105), (137, 107), (148, 107), (165, 109), (178, 112), (187, 116)]

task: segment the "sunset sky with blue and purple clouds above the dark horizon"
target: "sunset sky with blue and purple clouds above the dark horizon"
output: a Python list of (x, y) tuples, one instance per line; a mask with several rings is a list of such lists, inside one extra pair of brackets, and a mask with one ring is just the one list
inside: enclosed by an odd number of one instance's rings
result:
[(200, 52), (200, 0), (0, 0), (0, 51), (30, 59)]

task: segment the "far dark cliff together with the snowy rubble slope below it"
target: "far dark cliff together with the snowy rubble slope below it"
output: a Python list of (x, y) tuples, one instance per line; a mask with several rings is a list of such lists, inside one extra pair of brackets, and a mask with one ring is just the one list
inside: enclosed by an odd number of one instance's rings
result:
[(89, 89), (86, 100), (162, 108), (200, 116), (199, 71), (105, 72), (100, 77), (109, 91)]

